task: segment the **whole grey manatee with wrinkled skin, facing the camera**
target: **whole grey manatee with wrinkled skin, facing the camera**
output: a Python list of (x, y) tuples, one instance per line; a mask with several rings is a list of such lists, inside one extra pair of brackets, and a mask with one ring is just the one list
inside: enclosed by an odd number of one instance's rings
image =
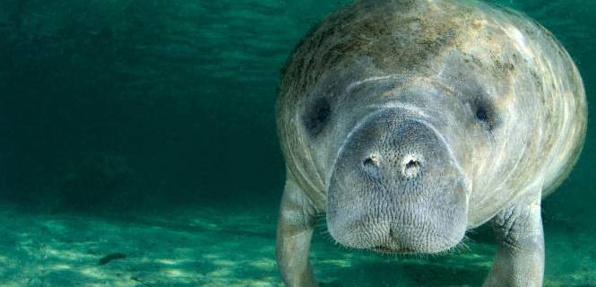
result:
[(583, 83), (538, 23), (471, 1), (368, 0), (311, 30), (277, 102), (287, 183), (277, 260), (315, 286), (315, 216), (333, 239), (439, 253), (493, 219), (486, 286), (540, 286), (540, 200), (569, 174), (586, 130)]

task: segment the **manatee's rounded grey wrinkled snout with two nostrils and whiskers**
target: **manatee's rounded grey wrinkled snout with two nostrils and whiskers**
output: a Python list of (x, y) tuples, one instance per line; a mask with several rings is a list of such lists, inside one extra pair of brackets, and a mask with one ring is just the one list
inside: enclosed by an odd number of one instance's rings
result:
[(465, 177), (442, 135), (400, 109), (377, 110), (341, 144), (327, 198), (338, 243), (390, 253), (436, 253), (466, 230)]

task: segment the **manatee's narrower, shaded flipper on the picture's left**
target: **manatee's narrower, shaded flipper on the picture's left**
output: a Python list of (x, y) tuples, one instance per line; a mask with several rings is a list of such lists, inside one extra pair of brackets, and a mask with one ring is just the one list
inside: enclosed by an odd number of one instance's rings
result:
[(276, 247), (277, 264), (287, 286), (317, 286), (308, 261), (315, 213), (308, 196), (288, 173), (281, 198)]

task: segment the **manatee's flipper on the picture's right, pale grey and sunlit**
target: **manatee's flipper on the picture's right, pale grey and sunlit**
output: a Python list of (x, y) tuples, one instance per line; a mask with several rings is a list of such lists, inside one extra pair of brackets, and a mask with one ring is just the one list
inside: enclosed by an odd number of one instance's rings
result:
[(493, 219), (497, 258), (485, 287), (542, 286), (544, 276), (544, 231), (540, 216), (541, 188), (532, 196), (512, 204)]

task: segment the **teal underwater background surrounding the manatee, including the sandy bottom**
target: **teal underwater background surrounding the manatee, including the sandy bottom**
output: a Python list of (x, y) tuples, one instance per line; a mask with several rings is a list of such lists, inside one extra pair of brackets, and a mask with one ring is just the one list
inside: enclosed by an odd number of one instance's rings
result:
[[(489, 1), (551, 30), (594, 110), (596, 1)], [(0, 1), (0, 286), (278, 286), (280, 70), (346, 0)], [(590, 117), (543, 202), (546, 286), (596, 286)], [(383, 257), (315, 232), (333, 286), (477, 286), (486, 227), (448, 257)]]

